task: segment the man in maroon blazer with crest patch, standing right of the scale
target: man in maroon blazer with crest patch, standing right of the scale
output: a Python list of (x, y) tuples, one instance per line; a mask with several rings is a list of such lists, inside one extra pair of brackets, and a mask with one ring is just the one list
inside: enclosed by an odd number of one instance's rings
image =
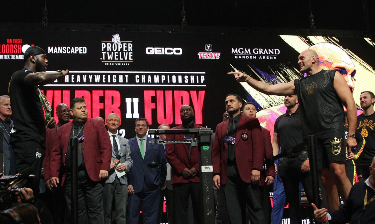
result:
[(213, 183), (224, 190), (231, 223), (264, 224), (259, 181), (264, 165), (264, 137), (258, 119), (241, 114), (242, 99), (228, 94), (230, 119), (219, 123), (212, 150)]

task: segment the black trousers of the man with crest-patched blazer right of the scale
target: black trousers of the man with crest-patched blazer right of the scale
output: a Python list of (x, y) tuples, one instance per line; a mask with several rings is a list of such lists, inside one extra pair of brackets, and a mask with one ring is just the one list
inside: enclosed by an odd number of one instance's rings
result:
[(248, 223), (245, 218), (246, 207), (252, 224), (265, 224), (259, 185), (244, 182), (236, 164), (228, 165), (228, 177), (221, 186), (224, 189), (231, 224)]

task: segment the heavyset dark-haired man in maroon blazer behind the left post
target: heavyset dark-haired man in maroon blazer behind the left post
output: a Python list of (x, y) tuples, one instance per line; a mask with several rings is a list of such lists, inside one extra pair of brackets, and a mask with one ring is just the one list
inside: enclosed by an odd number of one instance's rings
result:
[(78, 138), (78, 219), (80, 224), (103, 223), (102, 191), (110, 170), (112, 146), (104, 124), (87, 118), (86, 102), (74, 98), (71, 102), (73, 122), (61, 126), (51, 153), (51, 182), (57, 187), (60, 168), (61, 185), (65, 190), (68, 212), (71, 205), (71, 150), (69, 141)]

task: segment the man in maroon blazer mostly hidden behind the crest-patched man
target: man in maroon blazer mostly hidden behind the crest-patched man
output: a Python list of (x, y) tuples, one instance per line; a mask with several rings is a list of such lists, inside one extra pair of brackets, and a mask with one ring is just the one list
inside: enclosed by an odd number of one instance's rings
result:
[[(257, 117), (257, 110), (255, 108), (255, 105), (251, 102), (243, 104), (242, 114), (246, 116)], [(265, 170), (261, 172), (259, 186), (262, 195), (261, 197), (263, 197), (262, 207), (264, 212), (264, 219), (266, 223), (271, 223), (272, 207), (270, 201), (270, 191), (273, 191), (273, 188), (269, 189), (269, 186), (273, 183), (273, 180), (275, 180), (275, 162), (273, 162), (273, 160), (271, 159), (273, 158), (273, 152), (270, 131), (266, 128), (261, 128), (264, 137), (264, 159), (266, 159), (266, 161), (264, 164)]]

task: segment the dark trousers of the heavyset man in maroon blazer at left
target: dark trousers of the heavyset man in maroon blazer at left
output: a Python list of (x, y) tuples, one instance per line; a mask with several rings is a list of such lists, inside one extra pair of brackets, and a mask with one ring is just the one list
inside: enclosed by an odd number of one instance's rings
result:
[[(78, 171), (78, 222), (80, 224), (103, 224), (104, 183), (92, 181), (86, 170)], [(68, 220), (71, 215), (71, 175), (68, 173), (64, 183)]]

